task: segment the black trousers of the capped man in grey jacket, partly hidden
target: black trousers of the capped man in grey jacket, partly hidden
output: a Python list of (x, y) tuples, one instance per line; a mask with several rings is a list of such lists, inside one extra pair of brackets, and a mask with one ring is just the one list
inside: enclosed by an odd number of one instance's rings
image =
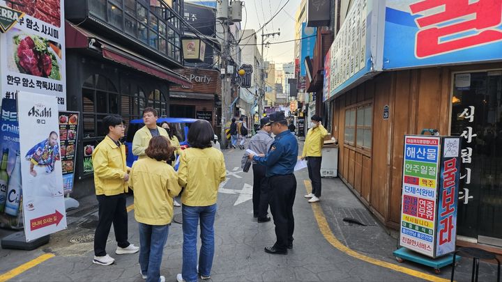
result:
[(264, 219), (268, 213), (268, 187), (265, 171), (265, 166), (253, 164), (253, 215), (259, 219)]

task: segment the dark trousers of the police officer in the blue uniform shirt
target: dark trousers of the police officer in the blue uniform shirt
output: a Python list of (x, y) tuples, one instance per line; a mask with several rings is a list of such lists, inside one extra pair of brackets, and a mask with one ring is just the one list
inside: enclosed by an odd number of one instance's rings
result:
[(287, 250), (293, 243), (294, 217), (293, 204), (296, 195), (296, 178), (294, 174), (275, 175), (268, 178), (271, 212), (275, 224), (275, 248)]

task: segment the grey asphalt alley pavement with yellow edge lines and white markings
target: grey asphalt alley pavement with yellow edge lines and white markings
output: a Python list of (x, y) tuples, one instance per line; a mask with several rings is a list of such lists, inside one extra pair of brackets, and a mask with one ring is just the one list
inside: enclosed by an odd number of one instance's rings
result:
[[(258, 224), (252, 217), (252, 173), (240, 168), (243, 151), (225, 150), (224, 154), (227, 181), (218, 198), (212, 281), (449, 281), (450, 267), (436, 275), (434, 269), (397, 263), (392, 255), (396, 240), (340, 179), (324, 178), (323, 201), (307, 203), (303, 198), (310, 189), (306, 169), (296, 172), (294, 249), (287, 256), (265, 253), (264, 246), (275, 242), (273, 221)], [(116, 263), (108, 267), (92, 263), (97, 219), (93, 202), (89, 198), (87, 207), (68, 213), (68, 229), (51, 235), (49, 244), (34, 251), (0, 249), (0, 260), (9, 261), (0, 263), (0, 281), (8, 275), (12, 281), (143, 281), (137, 254), (115, 255), (113, 230), (107, 251)], [(132, 197), (128, 210), (130, 242), (139, 245)], [(179, 221), (181, 208), (176, 207), (174, 213)], [(367, 226), (342, 221), (347, 216)], [(161, 267), (166, 281), (176, 281), (181, 272), (182, 242), (181, 224), (173, 222)], [(470, 274), (471, 261), (462, 260), (455, 280), (469, 281)], [(495, 275), (495, 265), (481, 263), (480, 281), (495, 281)]]

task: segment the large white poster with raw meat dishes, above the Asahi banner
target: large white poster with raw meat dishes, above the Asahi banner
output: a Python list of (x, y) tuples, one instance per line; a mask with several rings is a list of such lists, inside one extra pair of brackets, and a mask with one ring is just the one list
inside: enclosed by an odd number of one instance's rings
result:
[(25, 15), (0, 35), (1, 92), (26, 91), (57, 97), (66, 110), (66, 61), (63, 0), (1, 1)]

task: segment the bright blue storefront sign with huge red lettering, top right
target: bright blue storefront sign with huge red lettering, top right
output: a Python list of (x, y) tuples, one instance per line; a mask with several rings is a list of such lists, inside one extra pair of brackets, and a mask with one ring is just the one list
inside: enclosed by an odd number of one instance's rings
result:
[(500, 0), (386, 1), (383, 69), (502, 59)]

